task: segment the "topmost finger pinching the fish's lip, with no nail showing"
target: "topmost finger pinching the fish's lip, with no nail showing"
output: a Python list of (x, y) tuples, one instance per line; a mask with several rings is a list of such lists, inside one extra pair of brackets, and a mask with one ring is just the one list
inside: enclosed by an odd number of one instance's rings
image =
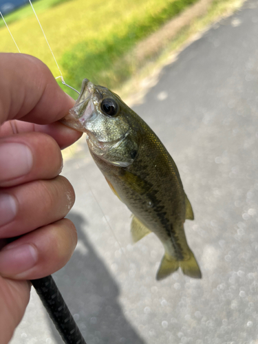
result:
[(38, 58), (1, 53), (0, 75), (0, 125), (13, 119), (46, 125), (63, 118), (74, 105)]

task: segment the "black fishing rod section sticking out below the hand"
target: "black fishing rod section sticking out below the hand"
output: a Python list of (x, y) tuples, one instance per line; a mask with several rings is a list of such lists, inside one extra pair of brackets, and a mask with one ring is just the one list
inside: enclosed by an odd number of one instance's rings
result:
[(31, 283), (56, 326), (56, 330), (63, 338), (64, 343), (87, 344), (53, 277), (50, 275), (41, 279), (32, 279)]

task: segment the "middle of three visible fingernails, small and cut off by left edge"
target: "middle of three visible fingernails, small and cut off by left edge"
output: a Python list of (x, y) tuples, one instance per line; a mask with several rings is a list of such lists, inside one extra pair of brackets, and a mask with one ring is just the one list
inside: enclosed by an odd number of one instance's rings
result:
[(0, 194), (0, 226), (8, 224), (17, 214), (17, 203), (12, 195)]

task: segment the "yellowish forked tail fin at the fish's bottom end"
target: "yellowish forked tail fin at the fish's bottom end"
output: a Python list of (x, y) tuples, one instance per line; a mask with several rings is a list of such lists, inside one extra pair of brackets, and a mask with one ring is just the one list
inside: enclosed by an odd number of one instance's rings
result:
[(160, 263), (160, 268), (158, 269), (156, 279), (159, 281), (160, 279), (164, 279), (171, 275), (173, 272), (178, 270), (180, 267), (184, 275), (195, 279), (202, 278), (202, 272), (197, 264), (195, 256), (193, 252), (190, 250), (190, 258), (187, 260), (178, 261), (174, 257), (169, 256), (165, 253), (162, 261)]

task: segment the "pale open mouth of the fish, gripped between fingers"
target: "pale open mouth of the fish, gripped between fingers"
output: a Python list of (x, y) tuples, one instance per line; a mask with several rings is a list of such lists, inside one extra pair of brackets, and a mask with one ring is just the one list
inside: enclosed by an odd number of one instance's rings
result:
[(69, 114), (65, 116), (61, 122), (68, 127), (78, 131), (87, 132), (85, 122), (89, 119), (94, 111), (94, 103), (92, 101), (95, 86), (88, 79), (83, 79), (80, 94), (74, 107), (69, 110)]

